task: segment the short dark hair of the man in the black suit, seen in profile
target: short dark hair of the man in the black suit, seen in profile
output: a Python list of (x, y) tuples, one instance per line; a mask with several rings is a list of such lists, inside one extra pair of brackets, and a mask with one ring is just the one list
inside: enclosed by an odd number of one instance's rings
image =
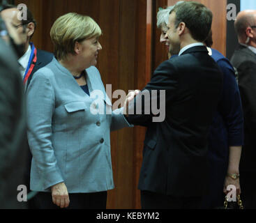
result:
[(176, 28), (184, 22), (195, 40), (199, 42), (206, 40), (213, 20), (213, 13), (209, 8), (195, 1), (184, 1), (177, 4), (170, 14), (173, 12), (176, 13), (174, 22)]

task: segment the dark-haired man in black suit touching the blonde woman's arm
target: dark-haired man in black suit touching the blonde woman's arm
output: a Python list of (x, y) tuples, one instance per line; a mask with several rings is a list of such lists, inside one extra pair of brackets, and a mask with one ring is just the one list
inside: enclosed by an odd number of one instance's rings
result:
[[(179, 56), (156, 69), (144, 89), (151, 97), (138, 95), (129, 106), (128, 121), (147, 127), (139, 182), (142, 208), (200, 207), (207, 186), (209, 126), (223, 84), (223, 75), (203, 44), (211, 23), (212, 13), (201, 3), (174, 7), (165, 38), (170, 40), (170, 53)], [(140, 102), (142, 114), (131, 114)], [(153, 109), (145, 111), (149, 102), (151, 107), (165, 107), (160, 111), (165, 114), (162, 122), (156, 122)]]

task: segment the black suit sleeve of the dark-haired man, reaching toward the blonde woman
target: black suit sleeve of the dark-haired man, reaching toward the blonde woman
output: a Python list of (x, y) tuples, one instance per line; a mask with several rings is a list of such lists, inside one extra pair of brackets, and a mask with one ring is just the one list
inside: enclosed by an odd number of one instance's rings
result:
[(149, 84), (129, 106), (128, 121), (133, 125), (148, 126), (165, 120), (165, 107), (173, 100), (178, 86), (176, 69), (170, 61), (162, 63)]

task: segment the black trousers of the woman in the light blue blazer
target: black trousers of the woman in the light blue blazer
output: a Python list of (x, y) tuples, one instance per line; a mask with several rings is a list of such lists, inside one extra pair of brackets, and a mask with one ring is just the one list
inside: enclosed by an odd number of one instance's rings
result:
[[(106, 209), (107, 192), (68, 194), (70, 204), (66, 209)], [(38, 209), (60, 209), (52, 202), (52, 193), (39, 192), (35, 197)]]

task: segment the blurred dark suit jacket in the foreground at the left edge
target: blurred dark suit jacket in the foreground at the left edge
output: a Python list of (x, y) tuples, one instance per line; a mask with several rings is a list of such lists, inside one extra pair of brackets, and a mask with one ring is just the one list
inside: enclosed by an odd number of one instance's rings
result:
[(0, 38), (0, 208), (24, 208), (17, 187), (24, 185), (26, 111), (17, 58)]

